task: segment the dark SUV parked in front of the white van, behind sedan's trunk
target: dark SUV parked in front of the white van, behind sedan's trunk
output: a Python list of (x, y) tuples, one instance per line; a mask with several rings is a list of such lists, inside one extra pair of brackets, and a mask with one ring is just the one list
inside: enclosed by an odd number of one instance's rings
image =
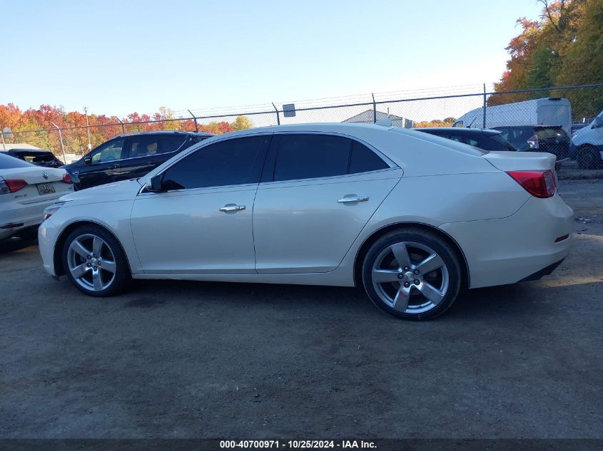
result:
[(561, 125), (513, 125), (495, 129), (517, 150), (549, 152), (557, 156), (557, 162), (569, 157), (571, 140)]

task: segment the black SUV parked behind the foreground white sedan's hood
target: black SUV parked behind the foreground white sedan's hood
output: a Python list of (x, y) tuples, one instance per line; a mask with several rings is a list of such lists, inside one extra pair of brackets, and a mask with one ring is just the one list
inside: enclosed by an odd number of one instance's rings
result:
[(76, 190), (134, 179), (211, 136), (179, 131), (117, 135), (63, 168), (71, 174)]

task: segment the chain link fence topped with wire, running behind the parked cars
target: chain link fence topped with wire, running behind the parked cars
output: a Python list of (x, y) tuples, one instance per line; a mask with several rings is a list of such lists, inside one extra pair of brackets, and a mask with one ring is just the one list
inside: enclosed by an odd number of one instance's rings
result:
[[(464, 126), (498, 128), (520, 150), (569, 155), (575, 128), (603, 110), (603, 83), (495, 92), (490, 85), (356, 95), (242, 108), (170, 111), (154, 120), (91, 120), (88, 126), (16, 130), (6, 144), (51, 150), (67, 162), (123, 133), (152, 130), (227, 133), (243, 128), (297, 123), (387, 123), (401, 128)], [(556, 126), (547, 128), (546, 126)], [(557, 131), (554, 131), (557, 130)], [(534, 136), (536, 139), (534, 140)], [(565, 150), (559, 150), (563, 141)], [(539, 142), (539, 145), (536, 143)], [(549, 144), (547, 144), (549, 143)], [(547, 145), (553, 143), (557, 147)]]

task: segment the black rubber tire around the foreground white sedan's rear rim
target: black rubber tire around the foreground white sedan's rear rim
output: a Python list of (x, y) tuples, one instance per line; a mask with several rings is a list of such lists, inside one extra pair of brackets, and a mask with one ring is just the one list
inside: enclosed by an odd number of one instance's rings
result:
[[(433, 306), (427, 311), (420, 311), (420, 306), (425, 305), (425, 302), (427, 302), (428, 304), (430, 300), (421, 294), (419, 289), (417, 289), (417, 286), (412, 285), (414, 283), (412, 281), (409, 281), (410, 297), (408, 301), (408, 308), (405, 309), (405, 311), (396, 310), (392, 308), (390, 304), (387, 304), (386, 301), (384, 301), (381, 297), (385, 290), (381, 290), (381, 295), (377, 294), (377, 289), (375, 289), (375, 286), (373, 285), (373, 266), (375, 266), (375, 264), (378, 264), (378, 262), (376, 263), (377, 258), (381, 258), (380, 256), (382, 256), (384, 252), (388, 252), (386, 250), (387, 248), (399, 243), (421, 244), (424, 247), (432, 249), (432, 251), (434, 251), (438, 256), (440, 256), (441, 260), (443, 261), (443, 266), (441, 269), (436, 269), (434, 271), (422, 274), (420, 276), (425, 276), (425, 282), (431, 283), (430, 280), (427, 280), (427, 277), (432, 276), (435, 277), (437, 280), (437, 271), (442, 271), (442, 276), (440, 277), (441, 281), (439, 283), (443, 284), (442, 281), (444, 279), (444, 267), (447, 274), (447, 289), (445, 290), (445, 295), (443, 296), (441, 301), (437, 302), (437, 304), (432, 303)], [(409, 246), (407, 249), (409, 249), (408, 253), (412, 261), (412, 267), (414, 267), (415, 264), (422, 260), (424, 257), (419, 256), (417, 258), (418, 254), (412, 254), (412, 252), (421, 252), (420, 249), (416, 248), (413, 251), (412, 245)], [(393, 261), (392, 264), (394, 267), (397, 266), (396, 261)], [(395, 271), (395, 269), (391, 269), (388, 271)], [(442, 239), (438, 234), (417, 227), (398, 229), (393, 232), (384, 234), (382, 237), (377, 239), (377, 241), (370, 247), (365, 256), (365, 259), (363, 261), (362, 274), (363, 286), (365, 288), (365, 291), (368, 294), (370, 300), (373, 301), (373, 304), (375, 304), (375, 306), (377, 306), (382, 311), (385, 311), (385, 313), (389, 313), (392, 316), (397, 316), (398, 318), (404, 318), (413, 321), (429, 320), (435, 318), (436, 316), (440, 316), (442, 313), (447, 311), (447, 309), (452, 306), (452, 303), (455, 301), (455, 299), (457, 299), (462, 283), (460, 257), (457, 256), (455, 249), (453, 249), (450, 244), (448, 244), (448, 242), (446, 242), (445, 239)], [(400, 274), (404, 274), (403, 270)], [(398, 277), (400, 276), (398, 275)], [(422, 283), (423, 280), (421, 279), (420, 284)], [(400, 288), (402, 288), (402, 281), (396, 281), (391, 283), (387, 282), (379, 286), (385, 286), (387, 288), (391, 286), (391, 289), (395, 291), (397, 289), (397, 286), (400, 286)], [(442, 287), (443, 285), (436, 288), (442, 289)], [(412, 309), (415, 308), (415, 303), (418, 303), (416, 306), (417, 311), (412, 312)]]

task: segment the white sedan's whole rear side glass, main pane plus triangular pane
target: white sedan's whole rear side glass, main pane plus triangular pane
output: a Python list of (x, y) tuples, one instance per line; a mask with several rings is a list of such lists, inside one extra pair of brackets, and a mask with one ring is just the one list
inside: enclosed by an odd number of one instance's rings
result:
[(266, 181), (303, 180), (356, 174), (389, 167), (367, 146), (335, 135), (275, 135), (273, 177)]

